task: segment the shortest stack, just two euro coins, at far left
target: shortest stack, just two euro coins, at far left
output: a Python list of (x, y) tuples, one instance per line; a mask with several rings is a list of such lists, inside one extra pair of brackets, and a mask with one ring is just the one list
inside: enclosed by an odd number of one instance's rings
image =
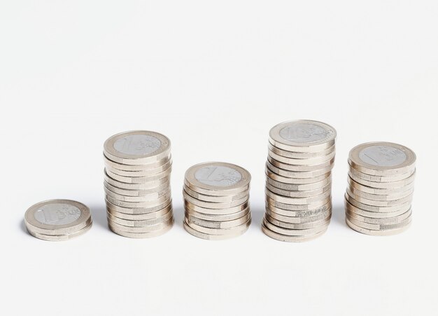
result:
[(90, 209), (72, 200), (48, 200), (32, 205), (24, 214), (27, 231), (43, 240), (69, 240), (90, 230)]

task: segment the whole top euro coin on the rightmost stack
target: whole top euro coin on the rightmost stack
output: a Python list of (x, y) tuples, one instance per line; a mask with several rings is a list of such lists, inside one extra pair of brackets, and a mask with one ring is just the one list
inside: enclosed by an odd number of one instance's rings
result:
[(348, 162), (355, 170), (383, 177), (411, 174), (415, 160), (414, 151), (390, 142), (360, 144), (351, 149), (348, 156)]

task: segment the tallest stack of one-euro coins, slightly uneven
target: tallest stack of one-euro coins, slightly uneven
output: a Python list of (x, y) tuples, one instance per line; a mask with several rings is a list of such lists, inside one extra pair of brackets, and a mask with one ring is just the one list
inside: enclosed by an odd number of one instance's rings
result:
[(270, 130), (266, 235), (303, 242), (325, 233), (332, 216), (335, 138), (334, 128), (316, 121), (290, 121)]

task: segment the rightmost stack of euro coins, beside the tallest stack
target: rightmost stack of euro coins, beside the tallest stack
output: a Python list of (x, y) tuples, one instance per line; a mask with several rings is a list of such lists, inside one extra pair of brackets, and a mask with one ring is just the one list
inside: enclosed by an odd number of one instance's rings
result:
[(348, 226), (367, 235), (394, 235), (411, 224), (416, 156), (388, 142), (361, 144), (348, 156)]

